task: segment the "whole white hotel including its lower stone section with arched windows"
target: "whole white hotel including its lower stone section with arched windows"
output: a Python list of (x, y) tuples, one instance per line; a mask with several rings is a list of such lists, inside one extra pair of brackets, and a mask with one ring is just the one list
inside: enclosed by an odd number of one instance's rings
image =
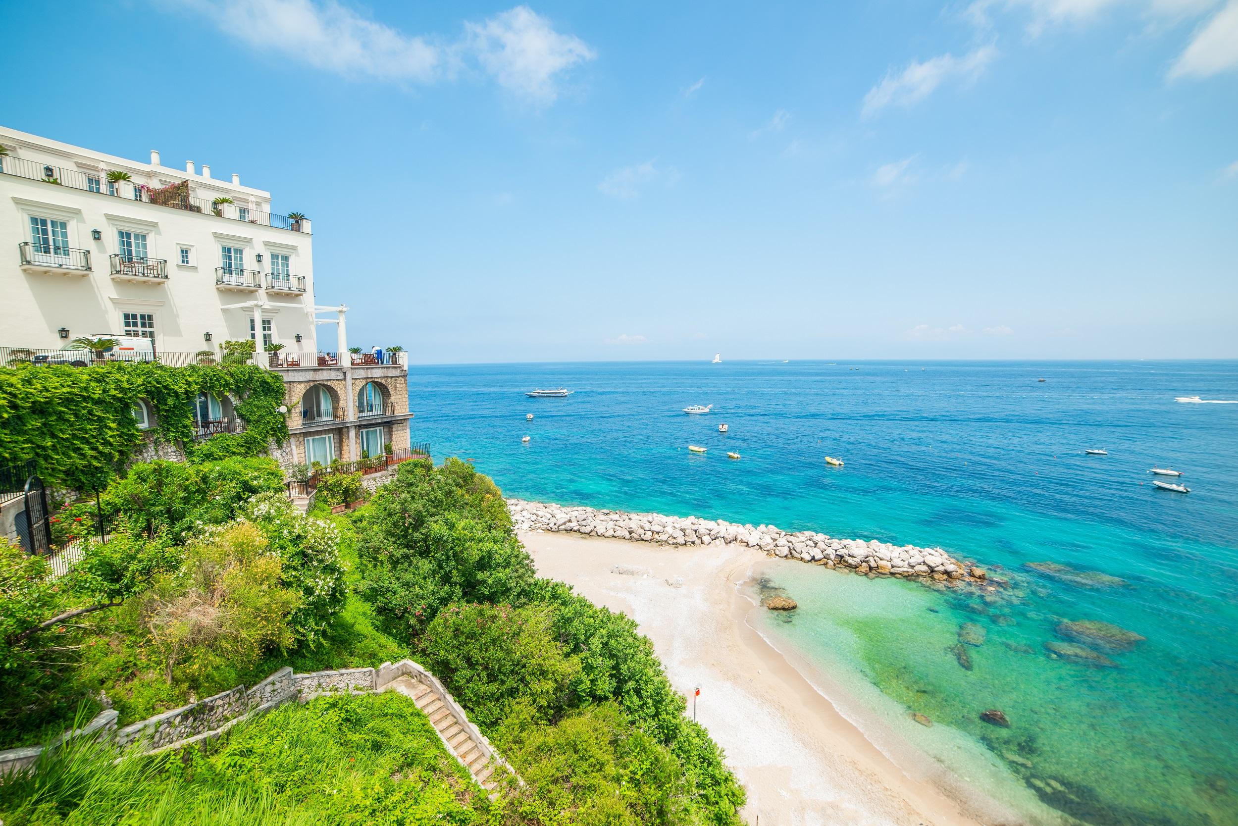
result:
[[(376, 364), (347, 352), (347, 307), (314, 306), (310, 219), (272, 213), (271, 193), (235, 173), (163, 166), (157, 151), (142, 163), (5, 126), (0, 146), (0, 364), (130, 336), (177, 367), (251, 338), (255, 363), (284, 379), (282, 462), (410, 456), (407, 354)], [(319, 324), (335, 328), (322, 349)], [(272, 343), (285, 349), (267, 355)], [(35, 358), (89, 362), (82, 350)], [(199, 437), (243, 426), (232, 407), (199, 398)]]

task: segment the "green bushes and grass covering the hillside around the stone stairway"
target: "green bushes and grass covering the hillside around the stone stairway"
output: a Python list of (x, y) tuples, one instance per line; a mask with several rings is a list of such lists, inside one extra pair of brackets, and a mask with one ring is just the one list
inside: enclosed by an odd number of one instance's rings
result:
[[(352, 516), (306, 516), (276, 492), (272, 468), (139, 464), (103, 494), (114, 537), (88, 545), (68, 576), (52, 581), (41, 560), (0, 554), (5, 744), (46, 739), (104, 695), (126, 724), (284, 665), (412, 656), (526, 783), (490, 802), (453, 785), (467, 773), (409, 773), (397, 764), (422, 759), (423, 744), (365, 737), (422, 731), (411, 703), (333, 698), (176, 758), (109, 768), (97, 747), (56, 749), (41, 772), (0, 784), (4, 822), (350, 822), (328, 806), (337, 800), (375, 822), (739, 822), (743, 790), (683, 716), (650, 641), (626, 617), (536, 576), (490, 479), (454, 459), (407, 462)], [(307, 733), (280, 741), (281, 729)], [(319, 757), (327, 744), (308, 733), (337, 729), (358, 750), (343, 773), (343, 754)], [(314, 757), (280, 757), (298, 743)], [(383, 805), (366, 807), (366, 795)]]

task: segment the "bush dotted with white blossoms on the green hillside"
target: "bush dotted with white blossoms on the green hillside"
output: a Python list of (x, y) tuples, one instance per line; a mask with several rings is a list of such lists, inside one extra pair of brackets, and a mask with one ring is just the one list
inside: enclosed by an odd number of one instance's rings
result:
[(313, 648), (348, 596), (344, 563), (339, 559), (339, 529), (306, 516), (275, 493), (250, 499), (240, 518), (256, 525), (280, 555), (282, 585), (301, 594), (301, 604), (291, 615), (293, 634)]

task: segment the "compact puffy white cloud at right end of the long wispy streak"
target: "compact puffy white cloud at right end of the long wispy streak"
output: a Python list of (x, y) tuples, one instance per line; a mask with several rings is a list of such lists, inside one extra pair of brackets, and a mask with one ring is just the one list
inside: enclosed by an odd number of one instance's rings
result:
[(464, 24), (468, 50), (499, 85), (537, 103), (558, 97), (556, 76), (597, 54), (583, 40), (560, 35), (529, 6), (516, 6), (480, 24)]

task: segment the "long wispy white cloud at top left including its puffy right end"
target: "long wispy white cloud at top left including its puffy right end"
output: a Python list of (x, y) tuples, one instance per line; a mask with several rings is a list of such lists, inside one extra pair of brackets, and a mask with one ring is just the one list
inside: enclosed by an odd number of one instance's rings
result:
[(406, 35), (337, 0), (167, 0), (192, 9), (225, 35), (324, 72), (349, 78), (435, 83), (475, 64), (510, 92), (546, 104), (557, 80), (593, 59), (578, 37), (561, 35), (529, 6), (464, 24), (457, 42)]

